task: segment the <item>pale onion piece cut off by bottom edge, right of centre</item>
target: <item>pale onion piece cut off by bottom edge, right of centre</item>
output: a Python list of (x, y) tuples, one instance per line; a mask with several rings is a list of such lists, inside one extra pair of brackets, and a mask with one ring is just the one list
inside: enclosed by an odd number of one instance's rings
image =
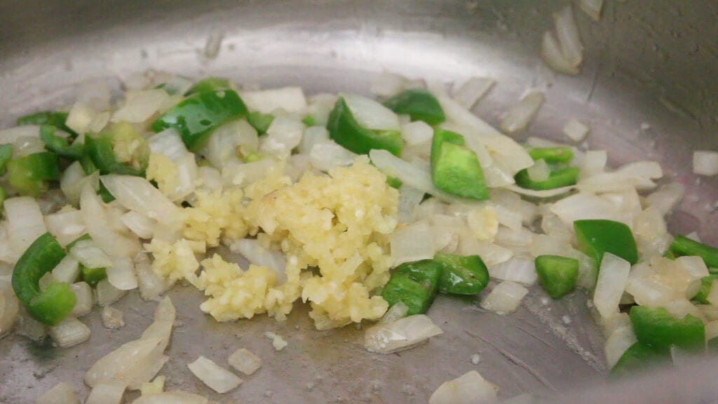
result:
[(472, 370), (442, 383), (429, 398), (429, 404), (498, 404), (498, 387)]

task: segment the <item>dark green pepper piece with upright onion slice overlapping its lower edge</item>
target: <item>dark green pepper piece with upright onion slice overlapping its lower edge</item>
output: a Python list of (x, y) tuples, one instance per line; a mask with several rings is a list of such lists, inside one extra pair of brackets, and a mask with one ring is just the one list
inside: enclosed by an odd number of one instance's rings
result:
[(574, 221), (574, 231), (583, 252), (601, 267), (605, 252), (621, 257), (631, 265), (638, 262), (638, 249), (630, 228), (623, 223), (604, 219)]

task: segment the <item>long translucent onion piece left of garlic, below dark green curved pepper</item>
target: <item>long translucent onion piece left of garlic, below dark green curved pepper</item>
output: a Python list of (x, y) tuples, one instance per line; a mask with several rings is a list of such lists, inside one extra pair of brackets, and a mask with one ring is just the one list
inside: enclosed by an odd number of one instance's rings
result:
[(148, 180), (134, 175), (103, 175), (103, 185), (118, 203), (157, 220), (160, 224), (173, 224), (179, 210)]

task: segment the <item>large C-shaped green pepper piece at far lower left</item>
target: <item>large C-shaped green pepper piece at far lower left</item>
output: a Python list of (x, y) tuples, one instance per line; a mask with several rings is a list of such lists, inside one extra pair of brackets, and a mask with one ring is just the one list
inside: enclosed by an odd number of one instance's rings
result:
[(45, 233), (22, 254), (12, 272), (12, 288), (18, 300), (27, 307), (32, 318), (48, 326), (60, 323), (77, 303), (67, 283), (51, 283), (47, 289), (39, 289), (42, 275), (52, 271), (64, 257), (60, 243), (52, 234)]

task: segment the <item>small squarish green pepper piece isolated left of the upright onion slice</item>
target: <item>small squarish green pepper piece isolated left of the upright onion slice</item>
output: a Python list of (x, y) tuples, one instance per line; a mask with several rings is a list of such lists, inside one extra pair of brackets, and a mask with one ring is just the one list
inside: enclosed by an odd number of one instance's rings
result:
[(558, 255), (536, 257), (536, 273), (541, 286), (554, 299), (560, 299), (576, 288), (579, 277), (579, 261)]

